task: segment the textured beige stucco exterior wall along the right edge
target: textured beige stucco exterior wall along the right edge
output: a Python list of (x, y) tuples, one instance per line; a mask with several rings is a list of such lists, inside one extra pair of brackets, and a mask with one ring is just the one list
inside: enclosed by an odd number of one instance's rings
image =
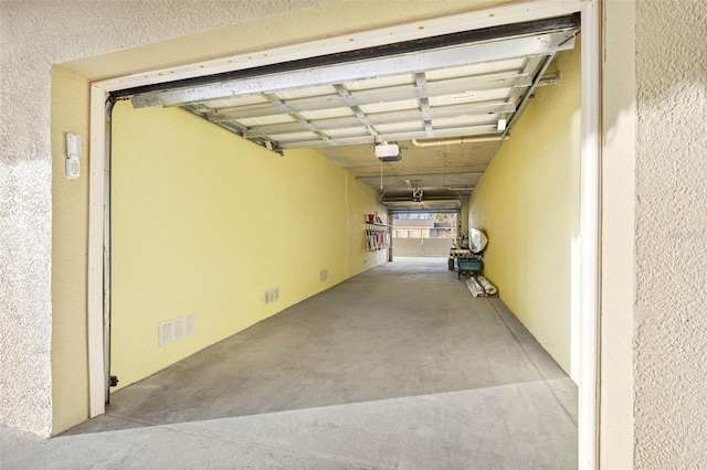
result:
[(707, 468), (707, 2), (636, 3), (635, 464)]

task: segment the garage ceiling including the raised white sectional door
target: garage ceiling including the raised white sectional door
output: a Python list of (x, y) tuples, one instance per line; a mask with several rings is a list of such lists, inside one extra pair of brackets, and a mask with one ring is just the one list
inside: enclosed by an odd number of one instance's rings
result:
[[(413, 188), (423, 189), (428, 207), (453, 207), (509, 136), (535, 87), (547, 82), (555, 55), (573, 47), (578, 26), (579, 19), (568, 17), (524, 23), (490, 40), (403, 43), (392, 52), (136, 94), (133, 103), (179, 106), (285, 156), (316, 148), (391, 207), (420, 207), (411, 201)], [(398, 143), (402, 160), (381, 163), (373, 145), (382, 141)]]

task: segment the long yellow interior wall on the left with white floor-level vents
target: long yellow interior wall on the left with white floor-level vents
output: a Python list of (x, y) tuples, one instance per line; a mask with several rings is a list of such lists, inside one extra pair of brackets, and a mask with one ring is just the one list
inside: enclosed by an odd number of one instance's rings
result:
[[(386, 261), (365, 249), (377, 193), (320, 153), (281, 157), (176, 108), (113, 116), (120, 387)], [(159, 323), (189, 313), (197, 333), (159, 348)]]

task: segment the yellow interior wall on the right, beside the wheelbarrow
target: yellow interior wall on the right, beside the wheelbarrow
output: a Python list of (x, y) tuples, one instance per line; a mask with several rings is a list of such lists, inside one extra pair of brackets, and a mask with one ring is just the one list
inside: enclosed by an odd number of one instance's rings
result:
[(572, 253), (580, 194), (579, 43), (556, 65), (560, 84), (537, 89), (472, 193), (469, 225), (488, 235), (485, 274), (500, 298), (571, 373)]

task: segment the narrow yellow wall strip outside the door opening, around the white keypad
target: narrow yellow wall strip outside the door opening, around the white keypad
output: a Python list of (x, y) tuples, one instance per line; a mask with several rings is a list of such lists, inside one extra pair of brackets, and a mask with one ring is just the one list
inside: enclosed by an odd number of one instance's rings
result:
[[(86, 252), (88, 249), (88, 82), (52, 68), (52, 428), (88, 414)], [(66, 132), (83, 136), (82, 178), (64, 177)], [(72, 377), (71, 381), (64, 380)]]

